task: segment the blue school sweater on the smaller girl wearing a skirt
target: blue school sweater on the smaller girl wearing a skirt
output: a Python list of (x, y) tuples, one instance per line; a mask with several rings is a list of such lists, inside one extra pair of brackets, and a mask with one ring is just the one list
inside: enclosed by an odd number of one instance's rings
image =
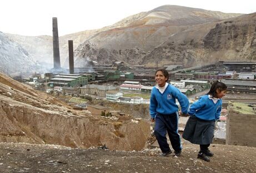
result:
[(222, 111), (222, 99), (219, 99), (216, 104), (209, 98), (208, 95), (200, 96), (199, 100), (193, 103), (189, 110), (189, 115), (195, 115), (203, 120), (218, 120)]

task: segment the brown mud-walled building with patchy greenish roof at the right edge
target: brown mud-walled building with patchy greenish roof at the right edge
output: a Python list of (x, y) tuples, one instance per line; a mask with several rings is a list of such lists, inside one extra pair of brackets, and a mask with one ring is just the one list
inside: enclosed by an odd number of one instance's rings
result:
[(255, 124), (255, 104), (229, 102), (226, 144), (256, 147)]

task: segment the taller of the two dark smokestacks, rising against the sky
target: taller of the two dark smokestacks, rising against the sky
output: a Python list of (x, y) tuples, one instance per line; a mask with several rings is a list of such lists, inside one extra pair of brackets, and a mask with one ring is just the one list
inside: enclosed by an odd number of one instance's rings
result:
[(57, 17), (52, 18), (52, 36), (53, 36), (53, 66), (54, 69), (61, 68), (61, 60), (59, 58), (59, 35)]

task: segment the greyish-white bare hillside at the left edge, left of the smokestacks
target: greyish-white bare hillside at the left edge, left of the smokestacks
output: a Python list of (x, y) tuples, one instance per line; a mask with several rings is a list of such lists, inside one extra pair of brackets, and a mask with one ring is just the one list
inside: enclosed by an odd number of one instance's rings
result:
[(21, 45), (0, 32), (0, 72), (8, 75), (31, 73), (36, 64)]

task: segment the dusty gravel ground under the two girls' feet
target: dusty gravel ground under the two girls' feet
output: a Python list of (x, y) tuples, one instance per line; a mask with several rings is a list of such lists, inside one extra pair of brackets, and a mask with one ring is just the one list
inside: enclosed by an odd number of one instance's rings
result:
[(198, 146), (183, 145), (180, 157), (159, 149), (109, 151), (58, 145), (0, 143), (0, 172), (256, 172), (256, 148), (214, 144), (210, 162), (196, 159)]

